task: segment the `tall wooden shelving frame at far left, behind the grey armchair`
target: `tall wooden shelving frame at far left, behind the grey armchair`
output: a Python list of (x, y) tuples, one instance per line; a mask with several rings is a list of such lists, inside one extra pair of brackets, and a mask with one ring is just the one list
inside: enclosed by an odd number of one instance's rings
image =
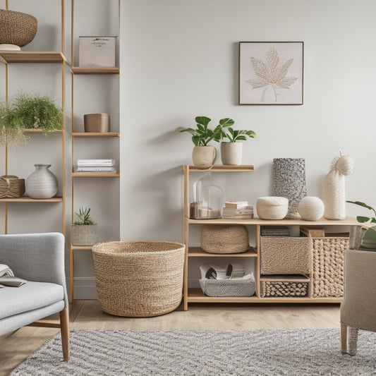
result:
[[(65, 3), (64, 0), (61, 0), (61, 51), (0, 51), (0, 63), (4, 63), (6, 65), (5, 70), (5, 92), (6, 92), (6, 102), (9, 102), (9, 86), (10, 86), (10, 76), (11, 76), (11, 65), (13, 63), (59, 63), (61, 64), (61, 107), (63, 109), (63, 130), (59, 133), (59, 137), (61, 137), (61, 160), (62, 163), (62, 172), (61, 176), (58, 178), (61, 179), (62, 183), (62, 196), (61, 197), (54, 197), (44, 200), (35, 200), (32, 198), (28, 198), (26, 196), (20, 198), (1, 198), (0, 202), (4, 202), (5, 205), (5, 228), (4, 234), (8, 234), (8, 212), (9, 206), (8, 204), (13, 203), (54, 203), (54, 202), (61, 202), (62, 204), (62, 228), (61, 232), (66, 234), (66, 56), (65, 56)], [(6, 1), (6, 9), (8, 9), (8, 1)], [(37, 87), (39, 90), (39, 87)], [(40, 134), (42, 133), (39, 129), (30, 129), (25, 131), (25, 134), (33, 135), (33, 134)], [(56, 134), (56, 133), (54, 133)], [(52, 133), (51, 133), (52, 135)], [(8, 175), (8, 145), (5, 147), (5, 174)]]

